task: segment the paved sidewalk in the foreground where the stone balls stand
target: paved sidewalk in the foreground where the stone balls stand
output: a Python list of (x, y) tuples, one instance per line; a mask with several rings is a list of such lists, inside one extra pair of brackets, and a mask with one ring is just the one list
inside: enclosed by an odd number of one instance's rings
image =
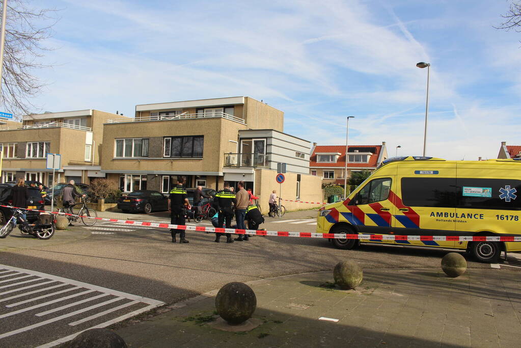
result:
[(520, 275), (474, 268), (448, 278), (441, 269), (371, 269), (351, 291), (331, 289), (331, 271), (284, 276), (249, 283), (257, 295), (253, 317), (264, 322), (250, 332), (207, 325), (216, 318), (217, 291), (116, 332), (129, 347), (518, 347)]

